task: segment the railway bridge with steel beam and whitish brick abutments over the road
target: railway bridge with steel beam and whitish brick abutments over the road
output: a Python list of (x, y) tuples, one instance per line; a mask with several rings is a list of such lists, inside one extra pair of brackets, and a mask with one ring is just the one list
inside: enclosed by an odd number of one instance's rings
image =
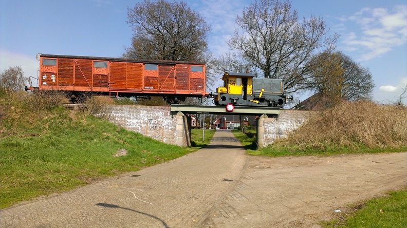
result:
[(235, 106), (232, 111), (226, 110), (225, 106), (199, 105), (109, 105), (107, 108), (110, 113), (108, 120), (118, 127), (182, 147), (191, 145), (192, 114), (257, 116), (258, 147), (286, 137), (309, 114), (307, 111), (244, 106)]

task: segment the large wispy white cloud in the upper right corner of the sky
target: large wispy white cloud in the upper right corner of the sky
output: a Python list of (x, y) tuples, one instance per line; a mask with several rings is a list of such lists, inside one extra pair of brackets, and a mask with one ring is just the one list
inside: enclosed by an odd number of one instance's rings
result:
[(360, 26), (361, 33), (349, 32), (343, 40), (343, 49), (360, 51), (359, 61), (377, 58), (407, 43), (407, 5), (396, 6), (392, 12), (384, 8), (363, 8), (346, 22)]

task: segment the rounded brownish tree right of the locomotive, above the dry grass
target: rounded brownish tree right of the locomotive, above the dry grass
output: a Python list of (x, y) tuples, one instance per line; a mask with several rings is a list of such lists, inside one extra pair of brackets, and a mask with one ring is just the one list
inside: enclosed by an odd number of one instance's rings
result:
[(375, 84), (372, 74), (340, 51), (323, 51), (309, 61), (306, 88), (347, 101), (369, 99)]

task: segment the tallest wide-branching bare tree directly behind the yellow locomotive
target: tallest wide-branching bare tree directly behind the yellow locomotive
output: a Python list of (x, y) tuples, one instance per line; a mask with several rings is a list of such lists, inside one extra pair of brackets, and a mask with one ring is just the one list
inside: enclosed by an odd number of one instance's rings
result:
[(287, 91), (297, 91), (306, 77), (307, 60), (313, 52), (332, 48), (338, 34), (328, 36), (321, 17), (310, 16), (300, 22), (288, 1), (256, 0), (237, 16), (229, 47), (251, 72), (265, 78), (285, 79)]

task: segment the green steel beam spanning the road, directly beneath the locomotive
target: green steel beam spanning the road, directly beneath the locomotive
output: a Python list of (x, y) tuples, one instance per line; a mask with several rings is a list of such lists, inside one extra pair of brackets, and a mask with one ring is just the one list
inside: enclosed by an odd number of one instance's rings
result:
[(220, 115), (250, 115), (269, 117), (278, 116), (280, 108), (234, 106), (233, 111), (226, 110), (226, 106), (202, 106), (202, 105), (171, 105), (172, 115), (182, 114), (220, 114)]

